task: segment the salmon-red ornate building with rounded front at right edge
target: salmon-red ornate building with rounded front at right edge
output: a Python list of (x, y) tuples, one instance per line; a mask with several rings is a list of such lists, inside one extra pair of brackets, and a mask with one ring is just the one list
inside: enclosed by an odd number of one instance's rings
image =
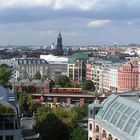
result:
[(139, 86), (139, 69), (137, 62), (127, 61), (118, 69), (118, 92), (135, 90)]

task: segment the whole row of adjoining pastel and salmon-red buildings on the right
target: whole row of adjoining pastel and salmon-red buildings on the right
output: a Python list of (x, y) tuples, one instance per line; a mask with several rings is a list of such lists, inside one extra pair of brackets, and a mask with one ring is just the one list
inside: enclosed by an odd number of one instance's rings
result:
[(139, 88), (138, 61), (99, 61), (86, 66), (86, 79), (91, 79), (98, 92), (129, 92)]

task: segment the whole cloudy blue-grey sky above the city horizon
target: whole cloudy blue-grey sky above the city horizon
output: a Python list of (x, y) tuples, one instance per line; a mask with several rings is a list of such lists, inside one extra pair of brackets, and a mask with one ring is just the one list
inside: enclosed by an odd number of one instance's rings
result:
[(140, 44), (140, 0), (0, 0), (0, 45)]

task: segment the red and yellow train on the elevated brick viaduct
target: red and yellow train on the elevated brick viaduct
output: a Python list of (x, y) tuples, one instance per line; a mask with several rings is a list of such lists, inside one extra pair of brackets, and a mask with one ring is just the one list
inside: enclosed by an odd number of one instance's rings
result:
[(52, 88), (55, 93), (82, 93), (82, 88)]

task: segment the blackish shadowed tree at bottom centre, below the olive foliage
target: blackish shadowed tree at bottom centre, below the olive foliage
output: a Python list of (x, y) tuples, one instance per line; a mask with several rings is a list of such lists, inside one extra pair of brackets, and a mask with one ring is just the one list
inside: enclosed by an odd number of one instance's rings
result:
[(41, 140), (68, 140), (68, 127), (53, 113), (47, 114), (41, 122), (34, 127), (40, 134)]

